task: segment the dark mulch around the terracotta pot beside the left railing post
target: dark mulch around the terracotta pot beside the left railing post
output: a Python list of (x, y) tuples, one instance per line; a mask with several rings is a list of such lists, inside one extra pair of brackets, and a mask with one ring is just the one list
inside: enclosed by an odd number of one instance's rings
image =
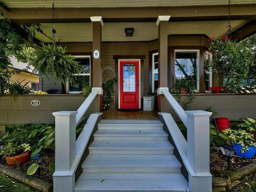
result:
[[(41, 154), (43, 154), (43, 157), (42, 157), (42, 161), (40, 163), (39, 171), (37, 171), (32, 176), (36, 177), (38, 179), (44, 180), (46, 182), (49, 182), (49, 183), (53, 183), (53, 177), (52, 177), (53, 170), (49, 169), (49, 164), (54, 162), (54, 151), (45, 150), (45, 151), (42, 151)], [(10, 166), (6, 163), (5, 158), (1, 158), (0, 163), (27, 174), (27, 170), (30, 167), (30, 165), (32, 165), (33, 163), (36, 163), (36, 162), (35, 162), (35, 160), (28, 160), (27, 162), (20, 164), (18, 166), (17, 165)]]

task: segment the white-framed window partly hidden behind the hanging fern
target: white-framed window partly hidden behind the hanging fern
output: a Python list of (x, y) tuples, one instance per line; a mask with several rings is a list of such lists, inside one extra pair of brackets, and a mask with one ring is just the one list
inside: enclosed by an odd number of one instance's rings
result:
[(84, 86), (91, 85), (91, 57), (88, 56), (75, 56), (75, 60), (78, 61), (78, 65), (82, 70), (81, 74), (76, 75), (76, 83), (72, 86), (67, 83), (67, 90), (70, 94), (80, 94), (82, 93), (82, 88)]

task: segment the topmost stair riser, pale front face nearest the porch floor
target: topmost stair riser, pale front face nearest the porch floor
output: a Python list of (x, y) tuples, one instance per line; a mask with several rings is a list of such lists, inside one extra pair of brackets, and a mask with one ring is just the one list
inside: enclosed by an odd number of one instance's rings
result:
[(163, 130), (163, 126), (98, 125), (99, 130)]

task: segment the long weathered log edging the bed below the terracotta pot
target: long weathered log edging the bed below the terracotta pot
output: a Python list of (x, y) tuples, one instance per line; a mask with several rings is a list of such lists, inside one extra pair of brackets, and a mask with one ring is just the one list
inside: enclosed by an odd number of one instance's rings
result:
[(5, 165), (0, 165), (0, 172), (7, 175), (8, 177), (16, 179), (19, 182), (22, 182), (43, 192), (50, 192), (53, 189), (53, 185), (51, 183), (26, 175)]

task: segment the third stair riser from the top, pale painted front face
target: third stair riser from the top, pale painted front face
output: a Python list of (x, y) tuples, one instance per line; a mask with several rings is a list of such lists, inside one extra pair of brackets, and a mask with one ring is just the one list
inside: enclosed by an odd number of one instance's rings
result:
[(99, 155), (173, 155), (173, 150), (90, 150), (90, 154)]

